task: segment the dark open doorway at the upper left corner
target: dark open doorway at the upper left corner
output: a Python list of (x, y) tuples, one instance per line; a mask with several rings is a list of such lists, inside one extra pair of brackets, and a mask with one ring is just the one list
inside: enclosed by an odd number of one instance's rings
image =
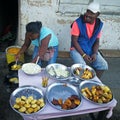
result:
[(0, 51), (14, 45), (18, 31), (18, 0), (0, 0)]

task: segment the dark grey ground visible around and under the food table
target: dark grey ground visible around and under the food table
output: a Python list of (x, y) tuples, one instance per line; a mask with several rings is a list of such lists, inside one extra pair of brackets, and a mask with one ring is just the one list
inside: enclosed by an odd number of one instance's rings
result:
[[(26, 57), (26, 62), (30, 62), (30, 57)], [(113, 116), (110, 120), (120, 120), (120, 57), (106, 57), (109, 64), (109, 70), (104, 73), (101, 80), (108, 85), (118, 104), (113, 110)], [(58, 58), (58, 63), (66, 66), (73, 64), (70, 58)], [(45, 65), (45, 64), (44, 64)], [(9, 105), (9, 97), (11, 92), (15, 89), (14, 86), (8, 86), (4, 83), (5, 76), (9, 73), (4, 52), (0, 52), (0, 120), (23, 120), (22, 117), (14, 112)], [(97, 114), (97, 113), (96, 113)], [(72, 116), (65, 118), (56, 118), (51, 120), (91, 120), (88, 115)]]

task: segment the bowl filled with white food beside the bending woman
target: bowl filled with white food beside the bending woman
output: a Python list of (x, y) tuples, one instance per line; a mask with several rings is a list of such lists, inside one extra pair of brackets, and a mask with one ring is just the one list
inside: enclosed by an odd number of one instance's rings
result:
[(41, 67), (35, 63), (25, 63), (22, 65), (22, 70), (28, 75), (35, 75), (41, 72)]

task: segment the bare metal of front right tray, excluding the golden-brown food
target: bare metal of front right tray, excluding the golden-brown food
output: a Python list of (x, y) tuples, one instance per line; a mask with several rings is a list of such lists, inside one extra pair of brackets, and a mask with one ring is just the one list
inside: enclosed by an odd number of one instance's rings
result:
[(103, 83), (100, 83), (100, 82), (95, 82), (95, 81), (82, 81), (79, 85), (79, 90), (80, 90), (80, 93), (81, 95), (83, 96), (83, 98), (85, 98), (86, 100), (88, 100), (89, 102), (92, 102), (94, 104), (98, 104), (98, 105), (105, 105), (105, 104), (109, 104), (112, 100), (113, 100), (113, 94), (112, 94), (112, 99), (109, 101), (109, 102), (106, 102), (106, 103), (98, 103), (98, 102), (94, 102), (93, 100), (90, 100), (88, 99), (87, 97), (85, 97), (81, 90), (88, 87), (89, 89), (92, 88), (92, 86), (106, 86), (105, 84)]

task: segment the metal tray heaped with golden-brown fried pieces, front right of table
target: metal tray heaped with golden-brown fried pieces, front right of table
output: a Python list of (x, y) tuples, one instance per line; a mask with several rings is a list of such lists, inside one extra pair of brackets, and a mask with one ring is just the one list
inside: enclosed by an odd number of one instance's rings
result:
[(85, 99), (95, 104), (107, 104), (113, 99), (111, 89), (102, 83), (83, 81), (80, 83), (79, 89)]

